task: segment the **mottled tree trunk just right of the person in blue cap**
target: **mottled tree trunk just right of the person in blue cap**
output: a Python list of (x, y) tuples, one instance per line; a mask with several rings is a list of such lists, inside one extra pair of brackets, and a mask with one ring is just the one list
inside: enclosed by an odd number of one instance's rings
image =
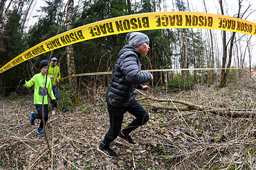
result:
[[(70, 0), (68, 2), (68, 10), (66, 11), (66, 30), (72, 29), (73, 5), (74, 5), (74, 0)], [(69, 84), (71, 85), (72, 90), (74, 92), (73, 102), (75, 104), (80, 104), (80, 98), (78, 95), (78, 87), (77, 87), (77, 79), (76, 77), (72, 77), (72, 75), (76, 74), (73, 45), (66, 46), (66, 64), (68, 66), (68, 75), (71, 76), (69, 77)]]

